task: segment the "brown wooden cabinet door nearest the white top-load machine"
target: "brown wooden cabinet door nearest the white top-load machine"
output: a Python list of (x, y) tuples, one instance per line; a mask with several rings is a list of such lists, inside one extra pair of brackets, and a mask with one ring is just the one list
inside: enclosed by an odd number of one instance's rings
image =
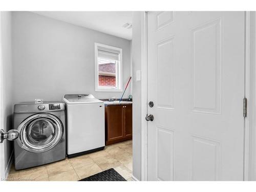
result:
[(122, 105), (108, 106), (108, 141), (124, 137)]

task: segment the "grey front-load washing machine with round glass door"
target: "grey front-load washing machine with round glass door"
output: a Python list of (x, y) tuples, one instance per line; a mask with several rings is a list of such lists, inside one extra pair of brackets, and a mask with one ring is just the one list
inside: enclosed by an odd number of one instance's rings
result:
[(15, 169), (66, 158), (65, 104), (22, 102), (14, 105)]

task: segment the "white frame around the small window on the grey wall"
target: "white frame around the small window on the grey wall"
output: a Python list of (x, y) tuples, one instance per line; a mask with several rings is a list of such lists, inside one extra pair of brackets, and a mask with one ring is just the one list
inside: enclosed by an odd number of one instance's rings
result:
[[(99, 84), (99, 69), (98, 69), (98, 47), (103, 47), (106, 49), (113, 49), (119, 52), (119, 72), (117, 72), (116, 75), (116, 83), (118, 84), (117, 88), (113, 88), (113, 87), (103, 87), (103, 86), (98, 86)], [(122, 92), (123, 91), (123, 74), (122, 74), (122, 60), (123, 60), (123, 56), (122, 56), (122, 49), (121, 48), (117, 48), (117, 47), (113, 47), (113, 46), (108, 46), (108, 45), (103, 45), (103, 44), (99, 44), (97, 42), (95, 42), (95, 46), (94, 46), (94, 54), (95, 54), (95, 91), (96, 92)], [(117, 66), (118, 69), (118, 66)]]

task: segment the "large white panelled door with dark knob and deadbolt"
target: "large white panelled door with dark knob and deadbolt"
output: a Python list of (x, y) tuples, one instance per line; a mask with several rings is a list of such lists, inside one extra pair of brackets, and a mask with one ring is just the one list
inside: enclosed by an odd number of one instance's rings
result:
[(148, 12), (148, 180), (243, 180), (244, 12)]

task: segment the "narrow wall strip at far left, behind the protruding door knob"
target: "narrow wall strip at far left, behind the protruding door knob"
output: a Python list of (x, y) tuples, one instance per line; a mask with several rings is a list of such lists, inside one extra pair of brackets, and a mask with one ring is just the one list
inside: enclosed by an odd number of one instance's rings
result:
[[(11, 12), (1, 12), (1, 129), (8, 131), (13, 128), (13, 82), (12, 82), (12, 47), (11, 47)], [(3, 128), (2, 128), (3, 127)], [(4, 148), (4, 169), (8, 168), (11, 153), (13, 151), (12, 141), (5, 140), (1, 144)], [(1, 154), (1, 156), (3, 153)], [(2, 160), (2, 159), (1, 159)], [(2, 162), (1, 162), (2, 163)], [(3, 170), (1, 170), (3, 172)], [(3, 173), (2, 173), (3, 174)]]

